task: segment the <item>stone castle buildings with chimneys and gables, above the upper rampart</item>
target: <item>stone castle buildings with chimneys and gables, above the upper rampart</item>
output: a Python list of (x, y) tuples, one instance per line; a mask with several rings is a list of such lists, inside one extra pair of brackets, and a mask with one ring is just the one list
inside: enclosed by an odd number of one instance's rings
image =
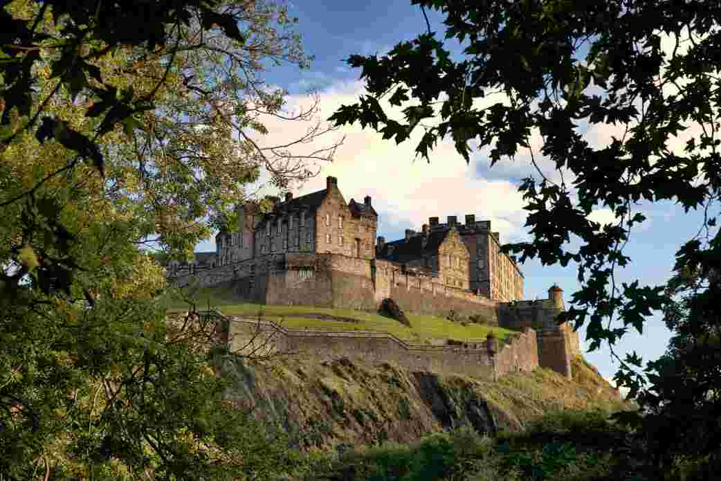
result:
[(239, 229), (218, 233), (215, 255), (198, 252), (193, 265), (172, 268), (214, 268), (283, 253), (339, 254), (389, 260), (487, 299), (523, 299), (523, 273), (514, 257), (500, 252), (490, 221), (476, 221), (470, 214), (466, 224), (458, 224), (456, 216), (441, 224), (430, 217), (422, 231), (407, 229), (404, 239), (392, 242), (378, 237), (376, 244), (378, 213), (371, 198), (346, 203), (335, 177), (327, 177), (324, 190), (298, 198), (288, 193), (283, 202), (273, 201), (269, 213), (252, 203), (238, 206)]

